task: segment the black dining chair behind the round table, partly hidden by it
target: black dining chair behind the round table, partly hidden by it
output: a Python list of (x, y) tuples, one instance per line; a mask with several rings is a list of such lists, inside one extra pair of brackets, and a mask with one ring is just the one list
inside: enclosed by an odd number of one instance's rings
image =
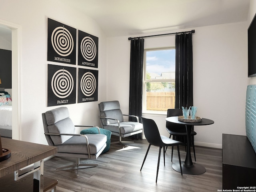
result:
[[(172, 116), (182, 116), (182, 109), (168, 109), (167, 110), (167, 117)], [(184, 144), (185, 144), (185, 150), (186, 150), (186, 142), (187, 142), (187, 131), (186, 126), (181, 124), (175, 124), (171, 122), (166, 122), (166, 130), (170, 133), (170, 137), (174, 140), (177, 139), (178, 136), (183, 137)], [(191, 143), (193, 147), (194, 157), (196, 161), (196, 152), (195, 152), (195, 146), (194, 146), (194, 136), (196, 135), (196, 132), (194, 130), (191, 131)], [(167, 150), (167, 147), (165, 149), (165, 152)], [(173, 154), (173, 146), (172, 146), (172, 154)]]

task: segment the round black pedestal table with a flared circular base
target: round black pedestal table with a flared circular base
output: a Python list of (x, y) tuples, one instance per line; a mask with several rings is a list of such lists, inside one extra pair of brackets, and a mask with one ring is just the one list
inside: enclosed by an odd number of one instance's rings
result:
[[(192, 162), (192, 158), (191, 158), (191, 154), (190, 154), (191, 130), (192, 130), (192, 126), (210, 125), (210, 124), (214, 124), (214, 121), (210, 120), (210, 119), (202, 118), (202, 122), (196, 122), (196, 123), (182, 122), (182, 121), (178, 120), (178, 116), (168, 117), (168, 118), (166, 118), (166, 121), (171, 122), (171, 123), (186, 125), (187, 153), (186, 153), (185, 161), (182, 161), (182, 163), (181, 163), (182, 173), (190, 174), (190, 175), (199, 175), (199, 174), (203, 174), (204, 172), (206, 172), (206, 169), (204, 168), (204, 166)], [(174, 170), (180, 172), (180, 164), (179, 163), (172, 164), (172, 168)]]

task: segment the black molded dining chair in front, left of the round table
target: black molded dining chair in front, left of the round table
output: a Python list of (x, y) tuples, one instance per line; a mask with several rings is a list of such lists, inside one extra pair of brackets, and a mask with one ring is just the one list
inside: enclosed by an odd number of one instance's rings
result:
[[(144, 134), (146, 137), (146, 140), (149, 142), (148, 150), (146, 152), (146, 155), (144, 157), (142, 166), (140, 168), (140, 171), (142, 170), (142, 167), (144, 165), (144, 162), (146, 160), (146, 157), (148, 155), (148, 151), (150, 149), (150, 146), (157, 146), (159, 147), (159, 154), (158, 154), (158, 164), (157, 164), (157, 171), (156, 171), (156, 182), (157, 182), (157, 177), (158, 177), (158, 170), (159, 170), (159, 162), (160, 162), (160, 156), (161, 156), (161, 150), (162, 148), (164, 149), (167, 146), (177, 146), (178, 149), (178, 156), (179, 156), (179, 162), (180, 162), (180, 172), (182, 175), (182, 167), (181, 167), (181, 160), (180, 160), (180, 150), (179, 150), (179, 144), (182, 144), (182, 142), (172, 140), (166, 136), (162, 136), (159, 133), (158, 127), (156, 125), (156, 122), (152, 119), (146, 119), (146, 118), (141, 118), (142, 119), (142, 124), (143, 124), (143, 129), (144, 129)], [(165, 153), (164, 153), (164, 166), (165, 166)]]

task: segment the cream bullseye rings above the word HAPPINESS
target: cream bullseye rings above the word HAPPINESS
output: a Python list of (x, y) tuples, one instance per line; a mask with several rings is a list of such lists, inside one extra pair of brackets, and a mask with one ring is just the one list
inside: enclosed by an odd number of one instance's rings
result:
[(81, 87), (82, 93), (85, 96), (88, 96), (88, 97), (92, 96), (92, 94), (94, 94), (96, 90), (96, 85), (97, 85), (96, 78), (91, 72), (87, 72), (82, 76), (80, 87)]

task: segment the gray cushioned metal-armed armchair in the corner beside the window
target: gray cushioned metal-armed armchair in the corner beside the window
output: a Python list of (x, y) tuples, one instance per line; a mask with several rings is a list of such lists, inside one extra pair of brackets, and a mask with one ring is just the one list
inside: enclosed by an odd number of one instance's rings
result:
[[(102, 128), (110, 130), (112, 135), (119, 136), (118, 142), (112, 142), (111, 144), (120, 143), (122, 146), (130, 142), (122, 141), (122, 137), (128, 137), (138, 133), (142, 133), (143, 125), (139, 122), (138, 116), (122, 114), (120, 104), (118, 101), (106, 101), (98, 104), (100, 111), (100, 122)], [(130, 116), (136, 119), (136, 122), (124, 122), (123, 116)]]

